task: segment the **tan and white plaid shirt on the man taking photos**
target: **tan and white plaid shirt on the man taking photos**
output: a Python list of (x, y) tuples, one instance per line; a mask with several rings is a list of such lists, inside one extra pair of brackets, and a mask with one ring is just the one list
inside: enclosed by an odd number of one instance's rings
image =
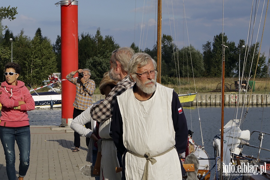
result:
[(66, 76), (67, 80), (76, 85), (76, 96), (73, 107), (78, 110), (86, 110), (92, 105), (92, 97), (96, 89), (95, 82), (89, 79), (84, 86), (79, 79), (73, 77), (74, 75), (69, 73)]

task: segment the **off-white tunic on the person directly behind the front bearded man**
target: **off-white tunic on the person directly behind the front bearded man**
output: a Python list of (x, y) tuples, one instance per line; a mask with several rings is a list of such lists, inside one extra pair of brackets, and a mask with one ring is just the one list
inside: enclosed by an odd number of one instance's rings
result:
[[(101, 172), (105, 180), (121, 180), (122, 172), (116, 173), (115, 168), (119, 167), (116, 147), (110, 136), (111, 118), (99, 125), (99, 136), (101, 143)], [(102, 176), (101, 176), (102, 177)]]

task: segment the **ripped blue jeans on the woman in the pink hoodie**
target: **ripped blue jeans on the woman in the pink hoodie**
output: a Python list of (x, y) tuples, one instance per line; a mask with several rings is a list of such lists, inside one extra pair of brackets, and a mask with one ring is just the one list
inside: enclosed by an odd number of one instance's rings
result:
[(0, 126), (0, 139), (5, 152), (8, 179), (16, 179), (15, 140), (20, 152), (19, 176), (24, 177), (30, 161), (30, 128), (11, 129)]

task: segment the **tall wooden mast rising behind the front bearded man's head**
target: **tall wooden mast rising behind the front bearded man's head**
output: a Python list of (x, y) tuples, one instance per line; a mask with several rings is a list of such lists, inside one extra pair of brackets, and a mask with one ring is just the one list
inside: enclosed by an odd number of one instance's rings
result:
[(162, 13), (161, 13), (161, 0), (158, 0), (158, 41), (157, 41), (157, 64), (158, 64), (158, 78), (157, 82), (161, 83), (161, 20), (162, 20)]

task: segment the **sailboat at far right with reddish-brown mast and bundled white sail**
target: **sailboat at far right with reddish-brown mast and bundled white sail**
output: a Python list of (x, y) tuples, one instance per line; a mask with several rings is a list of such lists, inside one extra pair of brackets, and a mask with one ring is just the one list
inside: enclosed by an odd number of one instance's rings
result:
[[(259, 4), (256, 4), (259, 7)], [(266, 13), (265, 13), (265, 19), (267, 14), (267, 8), (266, 7)], [(262, 7), (263, 9), (263, 7)], [(263, 12), (263, 10), (262, 10)], [(262, 16), (261, 16), (262, 17)], [(251, 15), (250, 15), (250, 19)], [(260, 19), (261, 20), (261, 19)], [(255, 22), (255, 17), (254, 17)], [(254, 24), (253, 24), (254, 26)], [(263, 26), (263, 29), (265, 27), (265, 23)], [(253, 27), (254, 29), (254, 27)], [(258, 29), (259, 32), (259, 29)], [(223, 34), (223, 33), (222, 33)], [(252, 32), (253, 35), (253, 32)], [(262, 31), (263, 36), (263, 31)], [(252, 39), (252, 38), (250, 38)], [(248, 41), (247, 41), (248, 42)], [(250, 41), (251, 42), (251, 41)], [(251, 44), (251, 43), (250, 43)], [(260, 42), (260, 45), (262, 44), (262, 39)], [(247, 44), (246, 48), (249, 45)], [(222, 45), (222, 102), (224, 102), (224, 71), (225, 71), (225, 49), (227, 46), (224, 44)], [(260, 48), (261, 49), (261, 48)], [(260, 49), (259, 49), (259, 55), (260, 55)], [(269, 52), (270, 54), (270, 52)], [(259, 56), (258, 55), (258, 56)], [(247, 57), (247, 55), (245, 55)], [(245, 57), (245, 58), (246, 58)], [(245, 59), (246, 60), (246, 59)], [(259, 60), (259, 57), (258, 57)], [(257, 60), (257, 61), (258, 61)], [(257, 62), (258, 64), (258, 62)], [(256, 67), (257, 69), (257, 67)], [(244, 68), (243, 68), (244, 71)], [(250, 69), (251, 71), (251, 69)], [(254, 75), (253, 81), (255, 81), (256, 71)], [(250, 73), (249, 78), (250, 79)], [(253, 88), (253, 87), (252, 87)], [(239, 91), (240, 94), (240, 91)], [(252, 91), (250, 92), (250, 96), (252, 94)], [(245, 97), (247, 97), (247, 91), (245, 92)], [(269, 132), (263, 132), (262, 127), (261, 130), (254, 130), (250, 133), (248, 130), (241, 130), (240, 125), (242, 124), (243, 120), (245, 119), (248, 108), (250, 105), (250, 98), (245, 98), (245, 100), (248, 101), (247, 110), (244, 116), (243, 110), (244, 107), (242, 107), (242, 113), (240, 114), (240, 118), (237, 119), (238, 115), (238, 108), (239, 104), (237, 104), (234, 115), (234, 118), (230, 120), (225, 126), (224, 126), (224, 103), (222, 103), (221, 107), (221, 128), (220, 128), (220, 135), (215, 136), (213, 141), (213, 147), (216, 154), (216, 175), (215, 179), (219, 180), (266, 180), (270, 179), (270, 158), (260, 158), (260, 152), (261, 150), (265, 150), (270, 152), (270, 149), (263, 148), (262, 142), (263, 139), (266, 137), (266, 135), (270, 135)], [(241, 109), (241, 108), (240, 108)], [(262, 126), (262, 125), (261, 125)], [(254, 146), (249, 143), (250, 137), (254, 138), (254, 134), (257, 134), (255, 138), (258, 138), (257, 141), (259, 141), (259, 146)], [(249, 146), (255, 149), (258, 149), (258, 154), (256, 157), (253, 157), (252, 155), (244, 154), (244, 147)]]

